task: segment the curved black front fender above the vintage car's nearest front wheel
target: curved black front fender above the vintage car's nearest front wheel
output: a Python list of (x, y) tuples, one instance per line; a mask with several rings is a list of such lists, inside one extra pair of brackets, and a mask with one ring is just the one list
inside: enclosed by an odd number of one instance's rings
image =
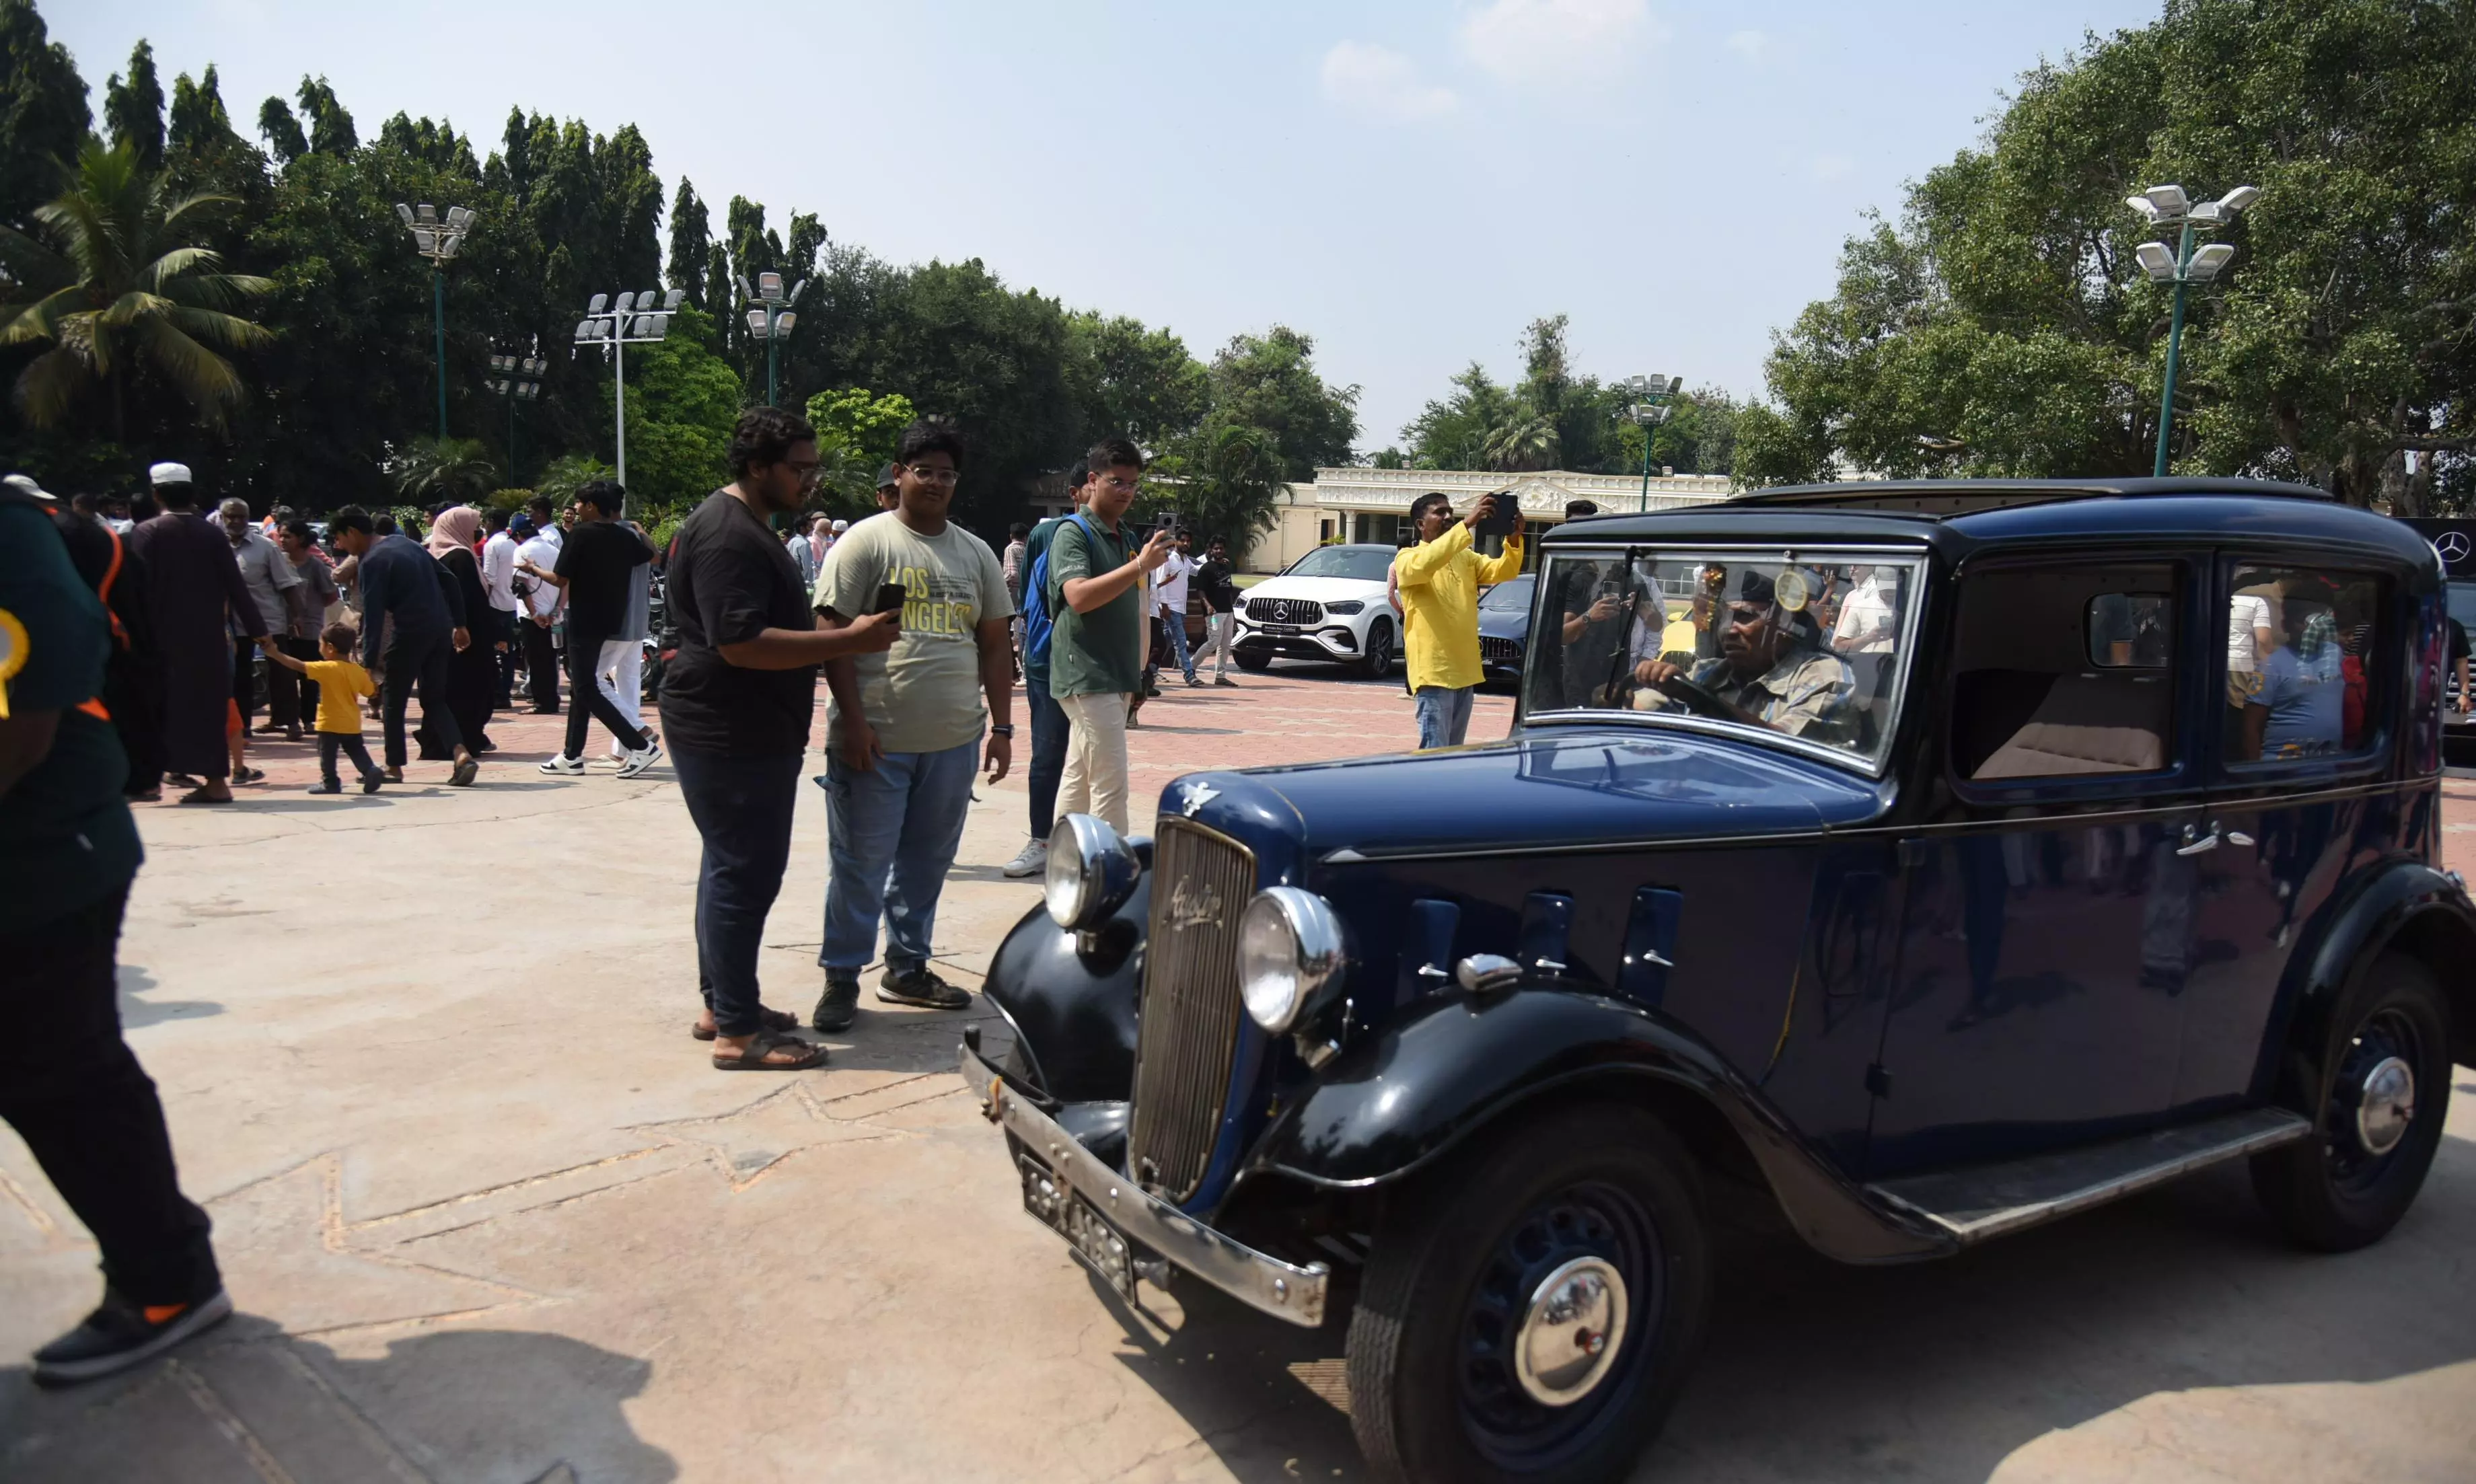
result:
[(1684, 1090), (1718, 1112), (1763, 1169), (1790, 1224), (1840, 1261), (1956, 1251), (1951, 1236), (1842, 1174), (1708, 1043), (1644, 1006), (1555, 984), (1505, 996), (1436, 996), (1362, 1038), (1255, 1145), (1250, 1172), (1315, 1187), (1404, 1179), (1508, 1110), (1550, 1090), (1634, 1083)]

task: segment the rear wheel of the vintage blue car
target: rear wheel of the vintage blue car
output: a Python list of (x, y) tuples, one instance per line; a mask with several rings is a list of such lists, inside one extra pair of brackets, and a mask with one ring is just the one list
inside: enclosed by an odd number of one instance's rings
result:
[(2253, 1194), (2298, 1246), (2379, 1241), (2424, 1187), (2449, 1105), (2449, 1011), (2424, 964), (2382, 954), (2340, 996), (2290, 1088), (2313, 1135), (2253, 1157)]

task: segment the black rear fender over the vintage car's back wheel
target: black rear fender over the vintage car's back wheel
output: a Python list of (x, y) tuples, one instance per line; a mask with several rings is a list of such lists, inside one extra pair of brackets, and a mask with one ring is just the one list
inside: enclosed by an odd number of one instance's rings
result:
[(2461, 989), (2466, 964), (2476, 961), (2476, 907), (2446, 872), (2422, 860), (2389, 860), (2357, 877), (2327, 909), (2313, 951), (2290, 961), (2278, 1026), (2263, 1038), (2261, 1095), (2293, 1102), (2315, 1093), (2280, 1080), (2280, 1065), (2293, 1065), (2290, 1058), (2283, 1063), (2283, 1053), (2310, 1048), (2310, 1063), (2330, 1036), (2340, 996), (2392, 946), (2417, 954), (2451, 993), (2454, 1055), (2461, 1063), (2476, 1058), (2476, 1013), (2469, 1008), (2476, 996)]

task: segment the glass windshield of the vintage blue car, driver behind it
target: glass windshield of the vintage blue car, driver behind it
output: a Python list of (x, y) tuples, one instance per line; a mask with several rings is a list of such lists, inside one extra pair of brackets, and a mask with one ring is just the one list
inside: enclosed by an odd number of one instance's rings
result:
[(1552, 555), (1540, 582), (1525, 721), (1624, 711), (1882, 761), (1916, 557), (1634, 548)]

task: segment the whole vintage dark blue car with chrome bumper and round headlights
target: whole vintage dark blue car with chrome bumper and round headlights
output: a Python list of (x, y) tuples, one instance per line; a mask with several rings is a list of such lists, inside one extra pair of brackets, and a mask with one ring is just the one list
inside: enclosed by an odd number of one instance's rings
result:
[(2434, 548), (2310, 488), (1575, 523), (1508, 741), (1067, 820), (963, 1073), (1129, 1301), (1347, 1323), (1377, 1477), (1617, 1479), (1721, 1197), (1889, 1264), (2248, 1159), (2389, 1231), (2476, 1060), (2444, 652)]

